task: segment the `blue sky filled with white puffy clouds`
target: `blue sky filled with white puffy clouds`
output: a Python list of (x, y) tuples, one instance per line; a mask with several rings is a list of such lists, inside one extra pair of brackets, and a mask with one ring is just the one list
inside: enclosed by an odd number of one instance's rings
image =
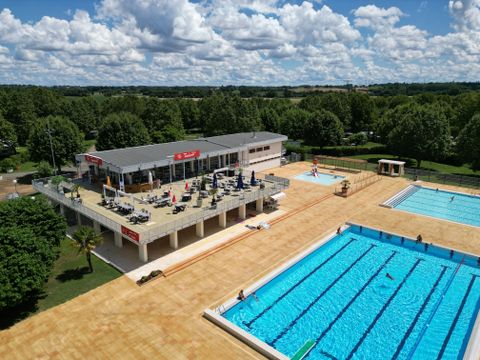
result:
[(0, 0), (0, 83), (480, 81), (480, 0)]

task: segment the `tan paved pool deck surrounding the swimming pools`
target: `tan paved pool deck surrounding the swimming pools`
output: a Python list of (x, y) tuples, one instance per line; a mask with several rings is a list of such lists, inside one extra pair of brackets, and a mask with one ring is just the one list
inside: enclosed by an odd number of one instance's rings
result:
[[(309, 168), (309, 163), (294, 163), (269, 172), (293, 179)], [(362, 176), (336, 173), (351, 180)], [(252, 232), (145, 286), (122, 276), (32, 316), (0, 332), (2, 358), (260, 359), (259, 353), (204, 319), (203, 310), (222, 304), (346, 221), (413, 238), (421, 233), (425, 242), (480, 255), (480, 229), (378, 205), (410, 183), (384, 177), (342, 198), (326, 196), (335, 186), (292, 180), (280, 207), (286, 214), (269, 230)]]

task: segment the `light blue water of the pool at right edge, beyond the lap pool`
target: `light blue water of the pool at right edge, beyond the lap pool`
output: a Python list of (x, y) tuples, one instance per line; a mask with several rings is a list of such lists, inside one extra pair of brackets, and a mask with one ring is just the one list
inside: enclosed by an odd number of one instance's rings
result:
[[(451, 201), (454, 196), (453, 201)], [(405, 198), (396, 209), (480, 226), (480, 197), (424, 187)]]

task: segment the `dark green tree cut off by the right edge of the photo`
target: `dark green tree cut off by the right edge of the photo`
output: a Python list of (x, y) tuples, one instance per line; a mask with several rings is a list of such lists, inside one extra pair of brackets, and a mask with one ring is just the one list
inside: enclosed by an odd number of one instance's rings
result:
[(474, 115), (457, 138), (458, 153), (473, 170), (480, 170), (480, 114)]

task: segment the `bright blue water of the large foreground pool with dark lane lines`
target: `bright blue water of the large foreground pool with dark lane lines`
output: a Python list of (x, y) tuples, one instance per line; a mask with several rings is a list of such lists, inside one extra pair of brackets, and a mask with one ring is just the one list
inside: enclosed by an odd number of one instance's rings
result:
[(307, 359), (457, 359), (479, 277), (475, 258), (352, 226), (223, 316), (289, 357), (314, 340)]

